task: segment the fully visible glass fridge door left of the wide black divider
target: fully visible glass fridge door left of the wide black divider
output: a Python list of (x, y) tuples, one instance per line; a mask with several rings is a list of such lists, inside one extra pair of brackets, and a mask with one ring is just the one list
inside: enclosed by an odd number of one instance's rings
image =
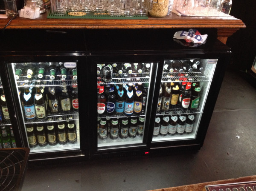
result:
[(80, 149), (77, 63), (11, 64), (30, 152)]

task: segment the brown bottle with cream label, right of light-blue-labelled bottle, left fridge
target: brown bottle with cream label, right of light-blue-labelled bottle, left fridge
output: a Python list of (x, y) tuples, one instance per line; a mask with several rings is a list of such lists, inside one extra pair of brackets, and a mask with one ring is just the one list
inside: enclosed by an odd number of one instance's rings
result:
[(46, 109), (45, 100), (41, 93), (40, 87), (36, 87), (34, 103), (35, 103), (36, 118), (38, 120), (44, 120), (47, 117), (47, 113), (46, 113), (47, 109)]

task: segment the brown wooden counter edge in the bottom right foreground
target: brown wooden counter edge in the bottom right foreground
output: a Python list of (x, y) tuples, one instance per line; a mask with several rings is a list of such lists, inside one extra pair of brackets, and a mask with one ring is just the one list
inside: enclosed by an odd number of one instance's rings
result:
[(199, 184), (192, 184), (192, 185), (183, 185), (177, 186), (172, 188), (162, 188), (156, 189), (151, 191), (206, 191), (204, 186), (206, 185), (218, 185), (218, 184), (227, 184), (227, 183), (235, 183), (235, 182), (250, 182), (256, 181), (256, 175), (248, 176), (248, 177), (240, 177), (236, 179), (228, 179), (228, 180), (218, 180), (213, 182), (204, 182)]

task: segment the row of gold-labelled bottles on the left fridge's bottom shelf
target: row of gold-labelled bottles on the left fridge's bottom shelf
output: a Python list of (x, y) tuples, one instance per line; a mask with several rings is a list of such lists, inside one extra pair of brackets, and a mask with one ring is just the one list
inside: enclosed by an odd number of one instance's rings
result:
[(44, 147), (47, 144), (54, 146), (77, 142), (76, 124), (72, 116), (68, 118), (68, 121), (63, 121), (63, 117), (60, 116), (57, 123), (52, 122), (52, 118), (48, 118), (47, 122), (26, 124), (30, 148), (37, 145)]

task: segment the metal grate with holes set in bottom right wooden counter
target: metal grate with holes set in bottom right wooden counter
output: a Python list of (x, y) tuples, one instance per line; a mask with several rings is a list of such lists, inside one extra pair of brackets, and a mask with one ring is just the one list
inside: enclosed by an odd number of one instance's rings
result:
[(256, 191), (256, 181), (207, 185), (206, 191)]

